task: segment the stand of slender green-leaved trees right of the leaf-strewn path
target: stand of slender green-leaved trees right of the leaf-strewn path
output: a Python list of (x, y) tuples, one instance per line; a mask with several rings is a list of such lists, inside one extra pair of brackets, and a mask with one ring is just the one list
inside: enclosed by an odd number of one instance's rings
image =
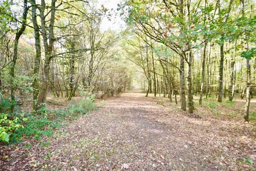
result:
[[(245, 5), (247, 12), (244, 12)], [(155, 51), (153, 51), (155, 56), (159, 55), (159, 58), (162, 58), (158, 60), (162, 68), (158, 68), (154, 73), (162, 72), (164, 75), (162, 79), (165, 82), (165, 78), (168, 78), (167, 61), (174, 70), (179, 71), (180, 78), (176, 79), (180, 81), (182, 110), (187, 110), (185, 94), (188, 96), (188, 113), (193, 113), (193, 94), (197, 92), (200, 92), (199, 104), (202, 104), (204, 95), (207, 98), (213, 93), (218, 97), (218, 102), (222, 102), (223, 97), (226, 98), (228, 84), (229, 100), (233, 99), (237, 89), (241, 89), (241, 97), (243, 97), (246, 87), (248, 96), (246, 96), (245, 120), (248, 121), (252, 86), (250, 60), (255, 58), (253, 48), (255, 39), (252, 39), (255, 37), (255, 23), (253, 23), (255, 15), (252, 16), (255, 7), (252, 6), (251, 1), (244, 3), (244, 1), (230, 0), (228, 3), (222, 3), (207, 0), (193, 2), (127, 0), (125, 4), (119, 6), (118, 10), (129, 10), (126, 21), (133, 30), (137, 30), (136, 34), (140, 33), (142, 37), (155, 42)], [(238, 44), (241, 45), (238, 47)], [(157, 47), (161, 46), (171, 51), (169, 54), (165, 53), (164, 58), (161, 57), (163, 54), (156, 51)], [(160, 51), (164, 49), (161, 48)], [(179, 67), (174, 65), (172, 60), (169, 61), (173, 53), (176, 53), (176, 61), (179, 57)], [(242, 58), (236, 60), (239, 56)], [(243, 57), (246, 58), (246, 64)], [(244, 66), (247, 68), (246, 85)], [(216, 70), (217, 67), (219, 70)], [(240, 70), (236, 72), (238, 67)], [(241, 78), (240, 82), (236, 81), (236, 75)], [(166, 82), (172, 81), (166, 79)], [(166, 87), (172, 89), (170, 86)]]

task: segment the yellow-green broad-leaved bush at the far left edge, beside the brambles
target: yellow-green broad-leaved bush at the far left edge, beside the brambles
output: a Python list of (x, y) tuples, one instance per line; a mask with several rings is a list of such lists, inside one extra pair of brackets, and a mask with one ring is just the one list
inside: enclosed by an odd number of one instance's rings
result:
[[(27, 121), (28, 119), (23, 117), (22, 120)], [(13, 132), (19, 128), (24, 128), (19, 121), (19, 117), (12, 118), (10, 114), (0, 114), (0, 138), (2, 141), (9, 143), (10, 136)]]

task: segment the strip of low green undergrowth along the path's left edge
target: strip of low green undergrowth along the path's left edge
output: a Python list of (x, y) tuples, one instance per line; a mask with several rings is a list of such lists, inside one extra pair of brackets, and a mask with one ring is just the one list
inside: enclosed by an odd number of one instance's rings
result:
[[(12, 129), (8, 127), (8, 130), (4, 130), (3, 128), (5, 127), (1, 122), (0, 133), (4, 132), (4, 134), (9, 135), (8, 140), (2, 138), (2, 143), (18, 143), (23, 139), (23, 137), (31, 137), (35, 138), (36, 140), (42, 139), (43, 136), (51, 137), (53, 136), (54, 128), (65, 127), (65, 123), (67, 121), (76, 120), (81, 115), (88, 115), (90, 111), (97, 110), (99, 107), (94, 103), (94, 99), (95, 96), (90, 96), (86, 99), (82, 99), (79, 102), (73, 101), (71, 105), (55, 110), (49, 110), (44, 106), (38, 110), (37, 113), (15, 113), (15, 117), (4, 115), (3, 119), (7, 120), (6, 124), (12, 123)], [(2, 104), (1, 107), (7, 111), (9, 106)], [(15, 119), (13, 120), (15, 123), (14, 125), (13, 122), (8, 120), (12, 118)]]

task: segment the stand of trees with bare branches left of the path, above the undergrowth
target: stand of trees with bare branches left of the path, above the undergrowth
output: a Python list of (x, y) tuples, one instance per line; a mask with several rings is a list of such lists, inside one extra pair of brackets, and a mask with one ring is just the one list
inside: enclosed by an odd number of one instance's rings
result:
[(70, 100), (79, 93), (113, 95), (131, 88), (129, 69), (117, 65), (119, 35), (100, 29), (105, 14), (91, 2), (4, 0), (0, 10), (0, 102), (10, 98), (14, 108), (20, 89), (36, 112), (50, 91)]

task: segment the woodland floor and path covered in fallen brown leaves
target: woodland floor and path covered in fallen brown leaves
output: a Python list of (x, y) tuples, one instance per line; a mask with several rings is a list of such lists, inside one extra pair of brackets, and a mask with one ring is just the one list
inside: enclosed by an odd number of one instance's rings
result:
[(188, 115), (167, 98), (144, 95), (106, 99), (99, 111), (43, 138), (51, 141), (47, 147), (35, 140), (2, 146), (0, 170), (256, 169), (255, 123), (243, 121), (243, 101), (210, 107), (204, 101)]

